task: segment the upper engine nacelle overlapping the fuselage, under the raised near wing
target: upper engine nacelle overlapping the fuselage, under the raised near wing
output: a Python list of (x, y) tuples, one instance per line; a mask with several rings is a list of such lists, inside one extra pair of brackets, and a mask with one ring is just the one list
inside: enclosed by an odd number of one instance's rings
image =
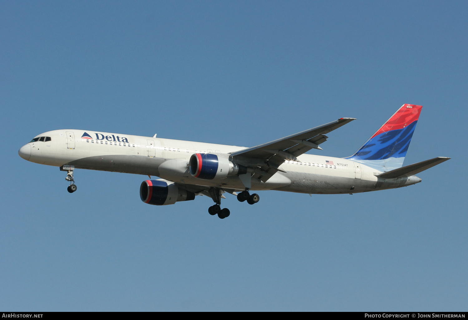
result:
[(195, 178), (213, 180), (245, 174), (247, 168), (213, 153), (194, 153), (190, 157), (189, 172)]

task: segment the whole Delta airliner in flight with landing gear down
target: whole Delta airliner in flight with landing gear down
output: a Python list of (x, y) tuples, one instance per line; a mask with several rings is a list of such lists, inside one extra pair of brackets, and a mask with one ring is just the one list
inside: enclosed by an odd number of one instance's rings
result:
[[(146, 204), (168, 205), (211, 197), (208, 213), (224, 219), (225, 193), (256, 204), (252, 190), (312, 194), (354, 194), (406, 187), (421, 182), (416, 174), (450, 158), (437, 157), (403, 167), (423, 107), (403, 104), (356, 153), (346, 158), (306, 154), (329, 132), (355, 118), (339, 118), (254, 147), (133, 136), (101, 131), (54, 130), (41, 133), (18, 154), (25, 160), (66, 171), (67, 190), (77, 190), (74, 169), (148, 175), (139, 194)], [(160, 177), (152, 179), (151, 176)]]

